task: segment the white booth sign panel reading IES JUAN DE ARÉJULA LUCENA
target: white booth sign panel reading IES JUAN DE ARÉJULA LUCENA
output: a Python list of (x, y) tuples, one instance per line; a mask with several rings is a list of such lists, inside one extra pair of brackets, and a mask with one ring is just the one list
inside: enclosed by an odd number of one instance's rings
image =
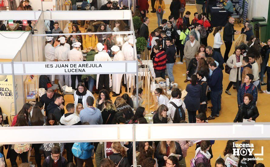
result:
[(14, 62), (14, 75), (109, 73), (136, 73), (136, 61)]

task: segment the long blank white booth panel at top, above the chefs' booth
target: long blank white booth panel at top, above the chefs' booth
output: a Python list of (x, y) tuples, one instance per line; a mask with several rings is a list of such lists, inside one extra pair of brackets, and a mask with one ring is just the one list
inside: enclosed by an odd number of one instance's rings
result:
[(44, 11), (44, 20), (130, 20), (130, 10)]

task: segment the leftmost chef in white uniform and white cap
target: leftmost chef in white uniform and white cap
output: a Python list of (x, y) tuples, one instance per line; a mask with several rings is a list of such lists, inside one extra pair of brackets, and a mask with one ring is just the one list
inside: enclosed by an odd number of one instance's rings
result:
[[(47, 44), (45, 46), (45, 61), (54, 61), (54, 50), (55, 48), (52, 46), (53, 44), (53, 37), (52, 36), (46, 36)], [(52, 81), (52, 84), (54, 84), (55, 75), (50, 75), (50, 80)]]

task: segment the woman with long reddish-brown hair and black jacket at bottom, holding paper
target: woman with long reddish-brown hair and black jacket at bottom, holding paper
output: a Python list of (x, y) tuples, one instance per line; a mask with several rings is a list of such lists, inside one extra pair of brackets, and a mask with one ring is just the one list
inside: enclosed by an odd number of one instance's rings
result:
[(166, 161), (171, 153), (181, 155), (177, 161), (182, 160), (182, 149), (179, 143), (175, 141), (160, 141), (155, 152), (158, 166), (166, 166)]

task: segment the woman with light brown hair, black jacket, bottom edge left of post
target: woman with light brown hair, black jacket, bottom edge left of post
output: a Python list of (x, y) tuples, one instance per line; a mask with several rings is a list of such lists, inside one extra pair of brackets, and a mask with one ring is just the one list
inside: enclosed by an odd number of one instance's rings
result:
[(111, 149), (113, 151), (113, 155), (108, 156), (110, 160), (116, 163), (118, 167), (130, 167), (127, 159), (127, 151), (120, 142), (113, 142)]

